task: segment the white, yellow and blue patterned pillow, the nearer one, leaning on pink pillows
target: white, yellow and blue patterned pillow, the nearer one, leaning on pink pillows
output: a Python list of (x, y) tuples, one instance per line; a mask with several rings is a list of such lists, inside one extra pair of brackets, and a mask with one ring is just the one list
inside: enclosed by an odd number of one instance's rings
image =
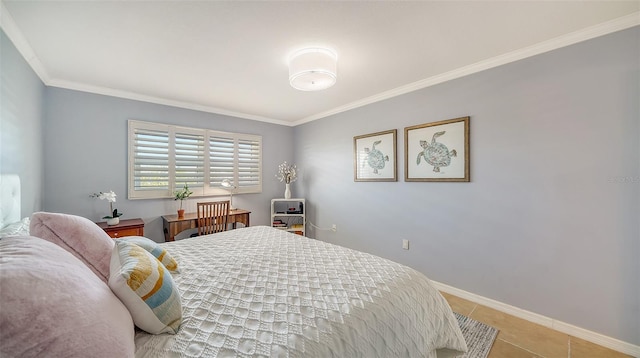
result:
[(180, 293), (171, 273), (147, 250), (115, 240), (109, 287), (140, 329), (152, 334), (178, 331), (182, 323)]

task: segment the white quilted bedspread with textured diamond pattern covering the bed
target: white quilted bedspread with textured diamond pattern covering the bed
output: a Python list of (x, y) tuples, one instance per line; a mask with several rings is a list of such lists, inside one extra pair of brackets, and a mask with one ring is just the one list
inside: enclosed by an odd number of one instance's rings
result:
[(136, 357), (438, 357), (466, 350), (421, 273), (266, 226), (163, 244), (176, 258), (177, 335), (136, 333)]

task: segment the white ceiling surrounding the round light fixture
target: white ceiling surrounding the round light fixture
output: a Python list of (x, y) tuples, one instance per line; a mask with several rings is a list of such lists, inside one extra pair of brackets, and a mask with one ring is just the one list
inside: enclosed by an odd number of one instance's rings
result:
[[(640, 24), (639, 1), (2, 1), (48, 86), (296, 125)], [(301, 92), (287, 56), (338, 54)]]

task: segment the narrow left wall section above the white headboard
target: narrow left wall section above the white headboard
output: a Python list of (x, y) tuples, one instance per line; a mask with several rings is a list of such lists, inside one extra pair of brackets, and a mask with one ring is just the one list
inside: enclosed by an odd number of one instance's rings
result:
[(0, 31), (0, 173), (20, 177), (22, 217), (42, 209), (45, 86)]

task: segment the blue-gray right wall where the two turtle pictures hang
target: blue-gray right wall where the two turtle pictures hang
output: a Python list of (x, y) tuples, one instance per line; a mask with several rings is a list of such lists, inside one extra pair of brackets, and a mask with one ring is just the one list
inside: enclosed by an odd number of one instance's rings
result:
[[(309, 218), (338, 228), (310, 235), (640, 344), (639, 43), (636, 27), (296, 127)], [(404, 127), (467, 115), (471, 182), (404, 182)], [(398, 182), (354, 182), (353, 137), (394, 128)]]

